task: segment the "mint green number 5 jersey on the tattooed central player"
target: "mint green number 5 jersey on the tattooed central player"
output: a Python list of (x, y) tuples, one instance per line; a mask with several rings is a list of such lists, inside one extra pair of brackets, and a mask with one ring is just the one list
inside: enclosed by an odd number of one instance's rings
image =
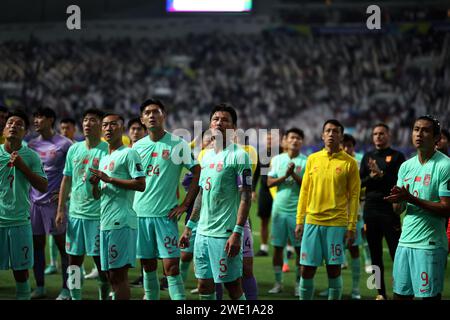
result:
[(250, 158), (241, 147), (230, 144), (217, 154), (209, 149), (200, 164), (203, 196), (197, 233), (229, 237), (236, 225), (239, 188), (252, 185)]

